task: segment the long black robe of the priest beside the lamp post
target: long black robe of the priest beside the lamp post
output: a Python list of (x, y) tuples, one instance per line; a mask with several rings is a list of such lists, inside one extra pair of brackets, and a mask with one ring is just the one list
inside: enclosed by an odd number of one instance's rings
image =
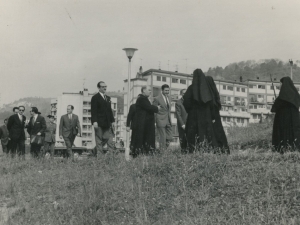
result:
[(158, 107), (151, 105), (148, 97), (139, 95), (132, 127), (131, 155), (150, 154), (155, 150), (155, 119)]

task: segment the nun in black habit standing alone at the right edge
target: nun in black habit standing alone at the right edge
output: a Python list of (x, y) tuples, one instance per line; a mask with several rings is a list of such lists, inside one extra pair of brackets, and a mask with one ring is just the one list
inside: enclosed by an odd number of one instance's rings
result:
[(300, 147), (300, 96), (290, 77), (283, 77), (280, 82), (279, 96), (271, 109), (275, 113), (272, 145), (283, 154)]

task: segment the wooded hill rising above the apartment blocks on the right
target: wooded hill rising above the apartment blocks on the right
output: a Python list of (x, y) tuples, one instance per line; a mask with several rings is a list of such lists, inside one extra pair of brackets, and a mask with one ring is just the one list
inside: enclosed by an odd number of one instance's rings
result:
[[(294, 61), (293, 65), (293, 80), (300, 82), (300, 64), (299, 60)], [(247, 79), (270, 80), (270, 74), (278, 81), (284, 76), (290, 76), (291, 67), (288, 61), (283, 62), (279, 59), (264, 59), (259, 61), (248, 60), (238, 63), (231, 63), (225, 68), (213, 67), (209, 68), (205, 73), (207, 76), (212, 76), (219, 80), (240, 80), (242, 76), (243, 81)]]

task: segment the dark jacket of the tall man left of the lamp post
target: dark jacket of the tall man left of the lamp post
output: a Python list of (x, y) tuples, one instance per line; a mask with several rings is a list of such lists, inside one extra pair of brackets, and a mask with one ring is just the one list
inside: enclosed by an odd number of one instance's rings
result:
[(106, 101), (98, 92), (91, 100), (92, 125), (97, 122), (101, 128), (110, 128), (115, 118), (111, 109), (110, 97), (106, 96)]

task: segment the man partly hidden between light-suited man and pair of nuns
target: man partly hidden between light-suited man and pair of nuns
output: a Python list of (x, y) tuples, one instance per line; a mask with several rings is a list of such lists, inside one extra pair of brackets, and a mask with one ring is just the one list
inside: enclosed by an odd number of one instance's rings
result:
[(187, 140), (185, 136), (185, 124), (187, 120), (187, 112), (183, 106), (183, 95), (186, 89), (180, 91), (181, 98), (177, 100), (175, 104), (176, 109), (176, 118), (177, 118), (177, 127), (178, 127), (178, 134), (179, 134), (179, 142), (181, 147), (181, 152), (185, 153), (187, 147)]

